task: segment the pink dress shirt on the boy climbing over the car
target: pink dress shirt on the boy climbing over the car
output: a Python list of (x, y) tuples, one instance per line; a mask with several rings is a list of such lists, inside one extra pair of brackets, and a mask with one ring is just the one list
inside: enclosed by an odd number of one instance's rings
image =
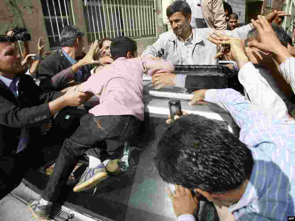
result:
[(100, 95), (100, 104), (89, 110), (94, 116), (133, 115), (143, 121), (142, 74), (156, 72), (174, 72), (174, 66), (168, 60), (120, 57), (91, 75), (78, 90)]

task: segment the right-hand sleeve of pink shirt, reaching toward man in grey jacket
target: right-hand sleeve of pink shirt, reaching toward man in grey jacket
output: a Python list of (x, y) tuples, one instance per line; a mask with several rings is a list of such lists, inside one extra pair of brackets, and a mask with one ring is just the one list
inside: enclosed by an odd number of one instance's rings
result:
[(152, 60), (142, 58), (142, 63), (145, 67), (145, 74), (154, 75), (155, 73), (174, 72), (174, 65), (169, 60)]

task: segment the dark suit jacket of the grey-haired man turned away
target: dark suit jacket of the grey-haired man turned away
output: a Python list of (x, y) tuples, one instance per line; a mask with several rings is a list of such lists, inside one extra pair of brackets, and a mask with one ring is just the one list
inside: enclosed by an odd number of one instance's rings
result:
[[(55, 87), (55, 85), (53, 85), (52, 83), (51, 78), (62, 70), (65, 70), (71, 66), (72, 64), (64, 56), (61, 49), (54, 54), (46, 57), (44, 60), (41, 61), (39, 65), (38, 73), (40, 79), (40, 87), (46, 91), (62, 90), (63, 88), (65, 88), (69, 81), (65, 85), (59, 85), (59, 87)], [(86, 81), (90, 77), (90, 71), (92, 68), (93, 65), (84, 65), (83, 67), (81, 67), (83, 74), (82, 82)], [(75, 75), (73, 80), (81, 81), (77, 75)]]

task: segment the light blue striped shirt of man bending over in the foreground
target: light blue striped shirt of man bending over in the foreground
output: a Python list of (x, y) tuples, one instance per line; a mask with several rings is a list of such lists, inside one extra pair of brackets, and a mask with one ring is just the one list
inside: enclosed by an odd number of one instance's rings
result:
[(232, 115), (241, 128), (240, 141), (252, 151), (250, 181), (239, 202), (229, 208), (235, 220), (287, 220), (294, 215), (295, 121), (267, 114), (233, 89), (208, 90), (205, 100)]

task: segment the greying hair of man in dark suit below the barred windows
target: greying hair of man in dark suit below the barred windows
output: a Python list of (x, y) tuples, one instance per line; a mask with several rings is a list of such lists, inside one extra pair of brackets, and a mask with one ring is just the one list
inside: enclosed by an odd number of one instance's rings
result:
[(83, 37), (82, 32), (78, 27), (73, 25), (66, 25), (60, 32), (60, 45), (61, 47), (72, 47), (79, 37)]

